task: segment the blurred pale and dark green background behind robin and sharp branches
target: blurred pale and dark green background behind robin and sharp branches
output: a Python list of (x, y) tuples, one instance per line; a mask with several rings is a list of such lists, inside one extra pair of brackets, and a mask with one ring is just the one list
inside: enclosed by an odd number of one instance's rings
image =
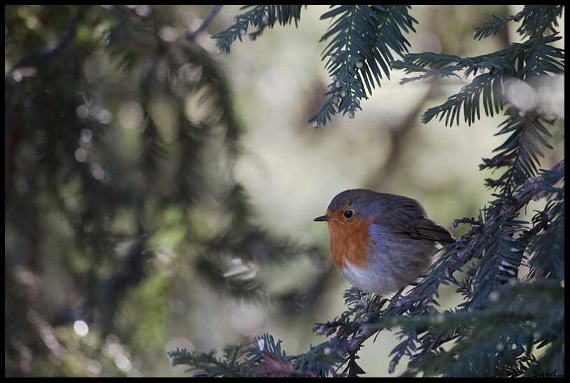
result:
[[(332, 197), (410, 196), (446, 227), (491, 199), (478, 165), (503, 117), (420, 124), (468, 79), (400, 85), (392, 72), (354, 119), (313, 129), (328, 7), (229, 55), (209, 36), (238, 6), (185, 38), (212, 9), (5, 7), (6, 376), (184, 376), (167, 351), (265, 332), (306, 352), (349, 287), (313, 222)], [(410, 51), (499, 50), (516, 25), (483, 41), (473, 29), (520, 9), (414, 6)], [(457, 303), (453, 289), (441, 303)], [(366, 376), (387, 375), (396, 344), (386, 331), (364, 344)]]

